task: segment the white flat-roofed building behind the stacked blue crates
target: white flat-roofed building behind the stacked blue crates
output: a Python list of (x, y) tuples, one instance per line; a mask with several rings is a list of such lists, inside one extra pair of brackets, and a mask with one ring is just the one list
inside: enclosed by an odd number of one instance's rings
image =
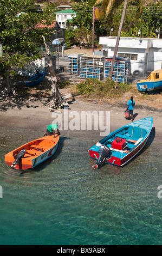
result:
[[(108, 51), (108, 56), (113, 56), (116, 36), (101, 36), (99, 44)], [(121, 37), (117, 56), (131, 59), (132, 75), (161, 69), (162, 39)]]

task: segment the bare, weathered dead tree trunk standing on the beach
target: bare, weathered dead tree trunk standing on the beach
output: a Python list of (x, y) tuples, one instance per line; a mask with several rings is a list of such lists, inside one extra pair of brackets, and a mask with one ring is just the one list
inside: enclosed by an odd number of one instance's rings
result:
[(61, 108), (61, 107), (64, 107), (64, 106), (68, 106), (68, 103), (66, 101), (64, 101), (61, 97), (61, 94), (60, 94), (59, 88), (58, 88), (58, 82), (59, 82), (60, 78), (56, 77), (55, 69), (54, 69), (54, 66), (53, 66), (53, 59), (51, 57), (51, 53), (49, 51), (49, 48), (46, 44), (46, 40), (45, 40), (43, 35), (42, 35), (42, 38), (43, 38), (43, 41), (44, 41), (44, 45), (46, 47), (46, 53), (47, 53), (48, 60), (49, 60), (49, 63), (48, 63), (48, 68), (49, 68), (49, 71), (50, 71), (49, 80), (51, 81), (51, 95), (53, 96), (53, 99), (48, 103), (48, 106), (49, 106), (50, 110), (54, 110), (54, 108), (58, 109), (58, 108)]

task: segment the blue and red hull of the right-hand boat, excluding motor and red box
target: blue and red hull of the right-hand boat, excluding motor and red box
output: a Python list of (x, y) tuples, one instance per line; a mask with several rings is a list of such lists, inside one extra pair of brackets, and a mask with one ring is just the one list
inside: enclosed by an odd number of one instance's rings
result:
[[(98, 152), (101, 145), (107, 145), (107, 147), (109, 147), (109, 150), (111, 150), (112, 155), (110, 157), (106, 157), (105, 163), (113, 164), (115, 166), (124, 166), (127, 162), (133, 159), (133, 157), (137, 155), (140, 152), (140, 150), (145, 146), (152, 129), (153, 121), (152, 121), (152, 118), (146, 118), (146, 119), (141, 119), (139, 121), (135, 121), (133, 123), (126, 125), (124, 127), (121, 127), (121, 129), (118, 129), (112, 132), (109, 136), (103, 138), (99, 143), (96, 143), (96, 145), (94, 145), (92, 148), (89, 149), (90, 157), (98, 161), (99, 159)], [(135, 132), (134, 134), (135, 134), (135, 137), (137, 138), (128, 137), (128, 131), (130, 129), (132, 129), (131, 130), (132, 135), (133, 135), (133, 132)], [(126, 131), (125, 135), (121, 135), (120, 132), (124, 130)], [(111, 142), (112, 138), (115, 138), (115, 137), (125, 138), (127, 143), (126, 148), (129, 150), (118, 150), (118, 149), (116, 150), (114, 148), (111, 148), (112, 147), (111, 145), (113, 145), (113, 143)], [(136, 140), (134, 141), (134, 139)]]

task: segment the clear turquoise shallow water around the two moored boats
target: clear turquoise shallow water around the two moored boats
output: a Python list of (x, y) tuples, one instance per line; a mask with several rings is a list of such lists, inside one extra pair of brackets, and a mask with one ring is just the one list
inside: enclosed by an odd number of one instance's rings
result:
[(36, 135), (20, 134), (9, 145), (14, 137), (1, 135), (0, 244), (161, 245), (161, 145), (154, 132), (125, 167), (99, 170), (87, 153), (97, 132), (61, 135), (52, 159), (22, 172), (7, 166), (4, 154)]

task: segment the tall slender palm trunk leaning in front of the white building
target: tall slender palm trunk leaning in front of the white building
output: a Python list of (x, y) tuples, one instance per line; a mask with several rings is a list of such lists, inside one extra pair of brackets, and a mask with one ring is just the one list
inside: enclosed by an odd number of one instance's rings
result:
[(128, 3), (128, 0), (125, 0), (124, 8), (123, 8), (123, 11), (122, 11), (122, 16), (121, 16), (121, 21), (120, 21), (120, 26), (119, 26), (119, 31), (118, 31), (118, 36), (116, 38), (116, 45), (115, 45), (115, 51), (114, 51), (113, 60), (112, 60), (112, 66), (111, 66), (111, 70), (109, 72), (109, 78), (110, 79), (112, 79), (112, 76), (113, 76), (114, 64), (115, 64), (115, 59), (116, 59), (116, 55), (117, 55), (117, 52), (118, 52), (120, 34), (121, 34), (122, 25), (123, 25), (125, 14), (126, 14), (127, 3)]

